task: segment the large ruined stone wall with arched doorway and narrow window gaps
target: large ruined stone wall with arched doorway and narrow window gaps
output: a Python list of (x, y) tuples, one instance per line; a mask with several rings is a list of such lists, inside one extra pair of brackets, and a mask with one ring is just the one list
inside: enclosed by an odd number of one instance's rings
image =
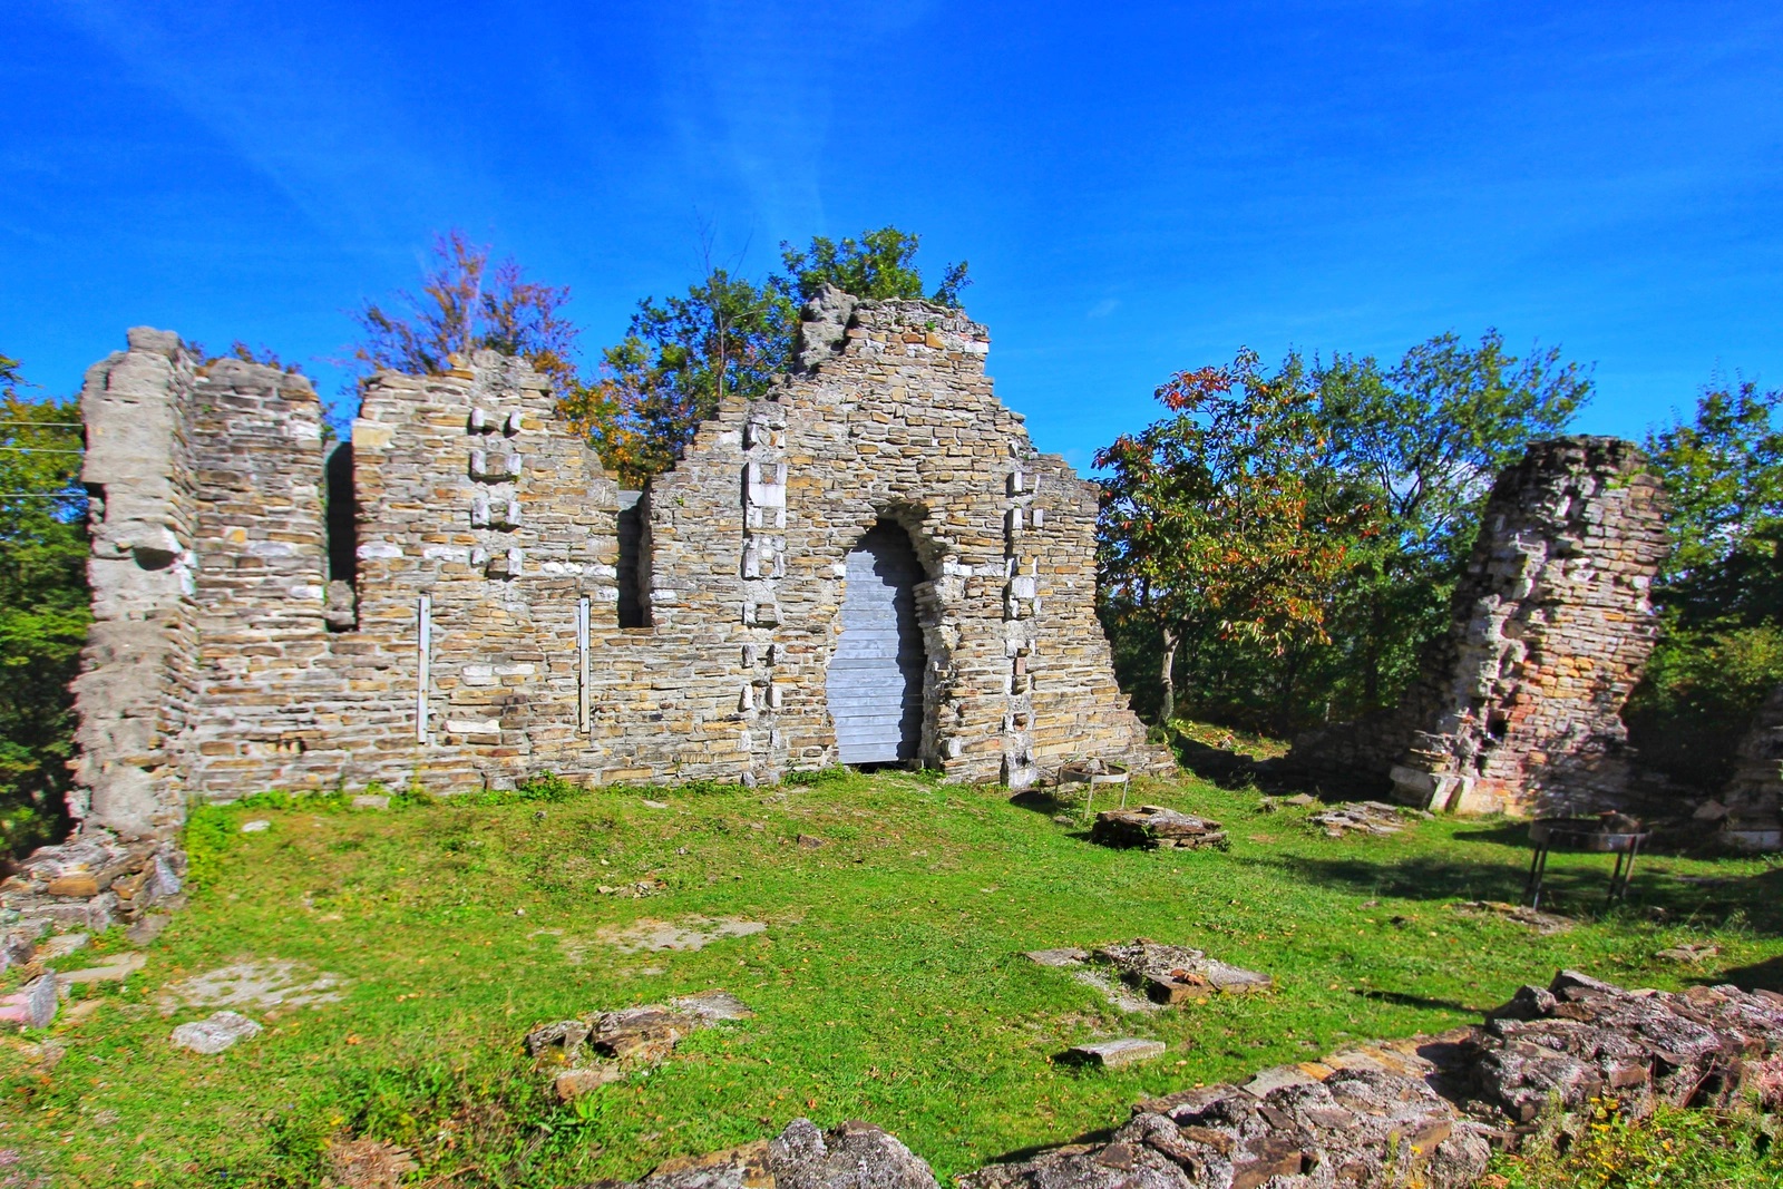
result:
[[(840, 291), (802, 319), (795, 373), (727, 398), (642, 494), (521, 360), (380, 373), (332, 446), (305, 376), (132, 330), (80, 398), (80, 836), (166, 840), (193, 799), (544, 770), (1171, 770), (1097, 620), (1097, 488), (993, 396), (984, 326)], [(98, 870), (50, 854), (25, 882), (68, 866)]]

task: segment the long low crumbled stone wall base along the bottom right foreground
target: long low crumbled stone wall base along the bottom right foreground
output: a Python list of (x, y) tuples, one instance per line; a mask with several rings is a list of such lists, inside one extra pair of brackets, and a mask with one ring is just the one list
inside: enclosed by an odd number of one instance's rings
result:
[[(1243, 1086), (1138, 1103), (1105, 1143), (991, 1164), (961, 1189), (1464, 1189), (1494, 1148), (1516, 1150), (1544, 1111), (1614, 1095), (1721, 1107), (1756, 1091), (1783, 1107), (1783, 995), (1624, 991), (1564, 970), (1523, 988), (1478, 1029), (1277, 1066)], [(626, 1189), (934, 1189), (929, 1166), (867, 1123), (663, 1164)]]

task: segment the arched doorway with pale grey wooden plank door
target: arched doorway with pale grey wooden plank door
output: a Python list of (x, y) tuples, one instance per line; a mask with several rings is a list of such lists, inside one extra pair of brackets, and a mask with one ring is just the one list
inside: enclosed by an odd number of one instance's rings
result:
[(924, 667), (916, 583), (925, 578), (897, 524), (881, 521), (849, 551), (842, 640), (826, 676), (842, 763), (916, 758)]

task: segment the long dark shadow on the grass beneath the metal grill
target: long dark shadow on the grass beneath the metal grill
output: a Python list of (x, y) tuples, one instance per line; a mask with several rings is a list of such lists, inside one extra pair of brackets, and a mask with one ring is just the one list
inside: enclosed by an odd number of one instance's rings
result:
[[(1612, 909), (1605, 902), (1615, 863), (1612, 856), (1589, 856), (1585, 861), (1565, 856), (1562, 865), (1562, 856), (1557, 852), (1555, 859), (1542, 881), (1544, 913), (1587, 922), (1612, 913), (1649, 914), (1658, 922), (1722, 923), (1742, 918), (1754, 932), (1783, 936), (1783, 868), (1701, 882), (1637, 866), (1628, 902)], [(1526, 845), (1510, 850), (1500, 863), (1457, 856), (1414, 856), (1396, 861), (1280, 856), (1250, 861), (1277, 866), (1309, 884), (1341, 886), (1400, 900), (1521, 904), (1530, 850)]]

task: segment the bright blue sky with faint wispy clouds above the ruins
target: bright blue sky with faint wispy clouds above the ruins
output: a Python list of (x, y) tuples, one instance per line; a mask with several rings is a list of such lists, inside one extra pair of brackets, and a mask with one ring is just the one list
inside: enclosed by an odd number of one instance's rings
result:
[(1637, 437), (1783, 387), (1783, 7), (32, 0), (0, 11), (0, 353), (130, 324), (339, 383), (464, 226), (645, 294), (895, 223), (968, 258), (998, 394), (1084, 465), (1171, 371), (1487, 326)]

